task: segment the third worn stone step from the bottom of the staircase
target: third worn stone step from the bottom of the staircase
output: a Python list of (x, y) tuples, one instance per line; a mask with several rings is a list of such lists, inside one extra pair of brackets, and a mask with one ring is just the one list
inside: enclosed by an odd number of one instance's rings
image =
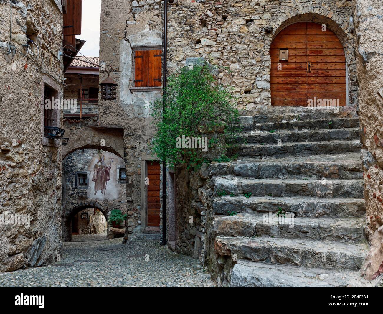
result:
[(269, 214), (215, 215), (213, 231), (223, 237), (275, 237), (339, 242), (365, 241), (364, 217), (293, 217)]

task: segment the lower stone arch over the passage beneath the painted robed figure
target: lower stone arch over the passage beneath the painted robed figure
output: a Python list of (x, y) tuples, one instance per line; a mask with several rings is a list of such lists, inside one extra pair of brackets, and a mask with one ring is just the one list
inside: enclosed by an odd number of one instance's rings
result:
[(76, 204), (68, 206), (67, 208), (65, 208), (61, 219), (62, 241), (69, 242), (72, 240), (72, 218), (75, 214), (87, 208), (95, 208), (100, 210), (100, 212), (102, 212), (102, 214), (104, 215), (106, 221), (108, 221), (108, 213), (113, 209), (101, 204), (101, 202), (94, 201), (78, 202)]

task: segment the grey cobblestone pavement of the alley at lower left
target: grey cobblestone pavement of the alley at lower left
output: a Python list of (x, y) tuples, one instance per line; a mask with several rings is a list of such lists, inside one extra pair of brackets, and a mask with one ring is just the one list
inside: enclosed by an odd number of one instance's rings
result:
[(64, 242), (63, 257), (55, 266), (0, 273), (0, 287), (215, 286), (198, 260), (159, 247), (158, 239)]

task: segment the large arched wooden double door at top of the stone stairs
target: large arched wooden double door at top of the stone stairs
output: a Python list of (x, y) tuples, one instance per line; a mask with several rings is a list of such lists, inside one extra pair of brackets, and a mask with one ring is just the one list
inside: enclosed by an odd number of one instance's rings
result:
[[(279, 58), (288, 49), (288, 60)], [(270, 46), (271, 104), (307, 106), (308, 99), (339, 99), (346, 105), (345, 53), (328, 28), (298, 22), (284, 28)]]

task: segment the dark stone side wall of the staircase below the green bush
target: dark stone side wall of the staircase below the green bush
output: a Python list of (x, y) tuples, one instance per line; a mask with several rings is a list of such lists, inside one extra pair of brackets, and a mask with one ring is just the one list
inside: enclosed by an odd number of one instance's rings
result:
[[(228, 169), (219, 163), (203, 164), (201, 169), (191, 171), (185, 166), (176, 169), (177, 185), (177, 239), (178, 253), (198, 258), (208, 267), (219, 285), (230, 277), (232, 260), (218, 257), (214, 252), (213, 199), (214, 175), (224, 174)], [(192, 219), (190, 219), (192, 217)], [(228, 264), (228, 265), (226, 265)]]

